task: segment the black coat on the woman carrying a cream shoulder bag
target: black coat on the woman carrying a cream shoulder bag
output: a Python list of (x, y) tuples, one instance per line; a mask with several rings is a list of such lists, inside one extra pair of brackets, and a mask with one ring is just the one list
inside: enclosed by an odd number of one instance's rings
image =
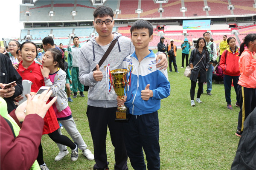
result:
[[(204, 55), (204, 57), (203, 57)], [(200, 61), (200, 59), (203, 59)], [(199, 62), (200, 61), (200, 62)], [(199, 62), (199, 63), (198, 63)], [(189, 65), (193, 63), (194, 69), (191, 71), (190, 79), (194, 82), (197, 81), (198, 75), (200, 74), (201, 82), (207, 82), (207, 71), (206, 68), (209, 67), (209, 53), (207, 50), (203, 49), (202, 54), (199, 53), (198, 49), (195, 48), (191, 51), (189, 58)], [(195, 65), (198, 65), (195, 67)]]

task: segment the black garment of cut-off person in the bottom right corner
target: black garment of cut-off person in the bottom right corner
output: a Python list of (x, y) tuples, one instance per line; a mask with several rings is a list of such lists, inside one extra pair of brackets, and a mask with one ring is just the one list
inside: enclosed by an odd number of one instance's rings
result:
[(231, 170), (256, 170), (256, 108), (244, 121), (236, 156)]

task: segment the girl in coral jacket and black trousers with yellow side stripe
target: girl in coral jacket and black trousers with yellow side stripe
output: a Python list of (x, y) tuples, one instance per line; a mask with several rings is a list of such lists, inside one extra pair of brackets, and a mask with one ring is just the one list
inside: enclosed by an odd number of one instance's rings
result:
[(244, 120), (256, 107), (256, 34), (248, 34), (240, 45), (238, 82), (240, 111), (236, 135), (241, 136)]

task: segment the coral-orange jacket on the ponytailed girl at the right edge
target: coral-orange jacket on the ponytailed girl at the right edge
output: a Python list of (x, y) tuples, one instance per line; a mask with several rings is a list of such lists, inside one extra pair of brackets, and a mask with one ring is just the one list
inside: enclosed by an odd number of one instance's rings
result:
[(255, 52), (244, 49), (239, 59), (239, 70), (241, 76), (238, 84), (245, 88), (256, 88), (256, 59), (253, 59)]

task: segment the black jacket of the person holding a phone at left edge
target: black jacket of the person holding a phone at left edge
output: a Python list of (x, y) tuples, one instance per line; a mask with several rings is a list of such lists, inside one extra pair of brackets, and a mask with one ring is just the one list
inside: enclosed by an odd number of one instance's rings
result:
[(15, 97), (22, 94), (23, 87), (22, 87), (22, 78), (20, 77), (20, 74), (15, 70), (15, 68), (12, 66), (12, 61), (4, 54), (0, 53), (0, 82), (7, 84), (13, 81), (16, 81), (15, 86), (15, 93), (12, 97), (9, 98), (3, 98), (5, 99), (7, 103), (8, 113), (13, 111), (16, 107), (13, 100)]

